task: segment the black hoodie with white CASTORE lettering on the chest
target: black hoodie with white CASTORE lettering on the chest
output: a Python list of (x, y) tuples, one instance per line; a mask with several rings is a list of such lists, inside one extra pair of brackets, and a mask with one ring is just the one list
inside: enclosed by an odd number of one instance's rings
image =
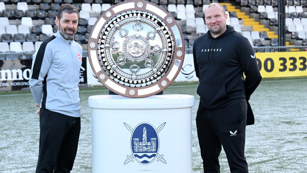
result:
[(193, 58), (201, 109), (215, 110), (248, 100), (262, 78), (251, 44), (228, 25), (216, 38), (210, 31), (198, 37)]

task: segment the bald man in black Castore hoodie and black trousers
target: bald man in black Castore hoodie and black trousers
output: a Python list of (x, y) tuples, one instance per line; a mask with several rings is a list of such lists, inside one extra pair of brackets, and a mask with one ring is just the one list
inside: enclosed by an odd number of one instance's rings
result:
[[(262, 77), (247, 38), (226, 25), (228, 16), (223, 6), (212, 3), (204, 15), (209, 31), (198, 37), (193, 46), (200, 82), (196, 126), (204, 173), (220, 172), (218, 157), (222, 145), (231, 173), (247, 173), (247, 101)], [(248, 112), (252, 114), (251, 109)]]

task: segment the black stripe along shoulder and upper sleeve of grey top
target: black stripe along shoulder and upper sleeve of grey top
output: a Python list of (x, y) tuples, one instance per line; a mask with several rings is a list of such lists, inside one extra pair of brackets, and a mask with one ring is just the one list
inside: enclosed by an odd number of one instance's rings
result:
[(35, 58), (35, 62), (33, 65), (33, 72), (32, 72), (32, 79), (37, 79), (39, 77), (40, 71), (41, 71), (41, 65), (43, 63), (43, 59), (44, 59), (44, 54), (45, 54), (45, 50), (46, 50), (46, 46), (49, 42), (51, 42), (53, 39), (55, 39), (56, 36), (52, 35), (51, 37), (49, 37), (47, 40), (45, 40), (40, 48), (37, 51), (37, 55)]

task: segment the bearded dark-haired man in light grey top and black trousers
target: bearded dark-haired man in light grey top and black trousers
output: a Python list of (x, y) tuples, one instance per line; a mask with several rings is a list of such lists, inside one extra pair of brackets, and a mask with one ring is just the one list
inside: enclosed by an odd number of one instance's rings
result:
[(82, 47), (74, 42), (79, 12), (62, 5), (58, 32), (33, 54), (30, 89), (40, 107), (40, 140), (36, 173), (70, 172), (80, 135), (80, 67)]

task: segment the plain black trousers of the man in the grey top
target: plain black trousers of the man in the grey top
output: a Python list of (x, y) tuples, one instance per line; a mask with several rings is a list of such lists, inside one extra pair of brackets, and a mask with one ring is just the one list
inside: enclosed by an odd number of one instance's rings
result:
[(80, 117), (40, 110), (39, 156), (36, 173), (70, 173), (74, 164)]

